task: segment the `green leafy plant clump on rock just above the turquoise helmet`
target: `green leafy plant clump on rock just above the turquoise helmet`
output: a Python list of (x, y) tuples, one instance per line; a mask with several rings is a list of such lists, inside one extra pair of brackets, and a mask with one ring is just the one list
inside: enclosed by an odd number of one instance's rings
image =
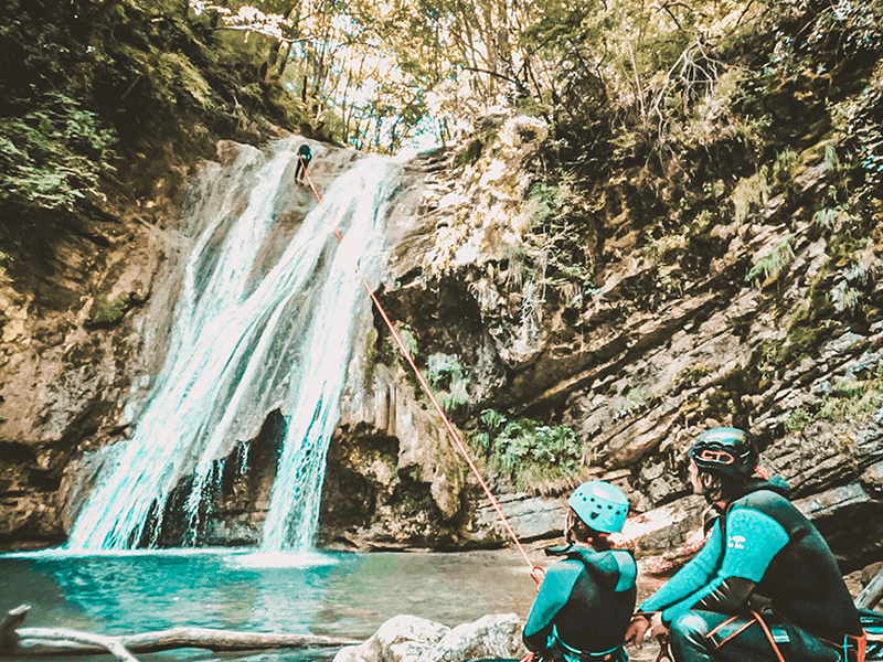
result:
[(583, 448), (576, 433), (564, 425), (550, 426), (531, 418), (510, 418), (485, 409), (470, 440), (490, 469), (520, 490), (570, 479), (579, 473)]

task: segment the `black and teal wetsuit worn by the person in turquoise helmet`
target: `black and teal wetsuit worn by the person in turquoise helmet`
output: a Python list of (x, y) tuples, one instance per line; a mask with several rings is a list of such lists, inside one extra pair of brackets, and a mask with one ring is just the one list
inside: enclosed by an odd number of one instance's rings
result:
[[(524, 624), (524, 645), (544, 659), (575, 662), (595, 653), (624, 660), (638, 569), (630, 552), (571, 548), (549, 568)], [(597, 659), (603, 659), (603, 655)]]

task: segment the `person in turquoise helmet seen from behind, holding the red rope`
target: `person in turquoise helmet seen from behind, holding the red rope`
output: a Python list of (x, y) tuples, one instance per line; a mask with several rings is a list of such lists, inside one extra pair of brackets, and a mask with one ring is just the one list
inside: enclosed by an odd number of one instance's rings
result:
[(549, 568), (540, 585), (524, 624), (524, 645), (547, 662), (625, 662), (638, 569), (631, 552), (614, 549), (609, 535), (623, 530), (628, 499), (610, 483), (589, 481), (571, 494), (567, 505), (570, 545), (546, 551), (565, 558)]

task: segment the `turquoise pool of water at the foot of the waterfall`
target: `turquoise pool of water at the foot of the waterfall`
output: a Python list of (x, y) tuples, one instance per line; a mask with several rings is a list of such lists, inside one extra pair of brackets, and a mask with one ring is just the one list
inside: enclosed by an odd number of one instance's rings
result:
[[(524, 619), (533, 580), (514, 551), (273, 554), (230, 549), (0, 556), (0, 608), (31, 605), (24, 627), (127, 634), (191, 626), (365, 639), (400, 613), (450, 627), (487, 613)], [(333, 651), (211, 653), (139, 660), (306, 661)], [(109, 660), (64, 658), (66, 660)]]

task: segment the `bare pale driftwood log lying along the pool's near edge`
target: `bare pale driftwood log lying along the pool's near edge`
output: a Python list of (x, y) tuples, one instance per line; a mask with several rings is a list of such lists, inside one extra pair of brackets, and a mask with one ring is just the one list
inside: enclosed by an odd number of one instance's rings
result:
[(211, 651), (340, 648), (360, 640), (321, 634), (237, 632), (210, 628), (171, 628), (140, 634), (92, 634), (67, 628), (19, 627), (30, 609), (22, 605), (0, 624), (0, 659), (14, 656), (110, 654), (121, 662), (138, 662), (132, 653), (156, 653), (179, 648)]

